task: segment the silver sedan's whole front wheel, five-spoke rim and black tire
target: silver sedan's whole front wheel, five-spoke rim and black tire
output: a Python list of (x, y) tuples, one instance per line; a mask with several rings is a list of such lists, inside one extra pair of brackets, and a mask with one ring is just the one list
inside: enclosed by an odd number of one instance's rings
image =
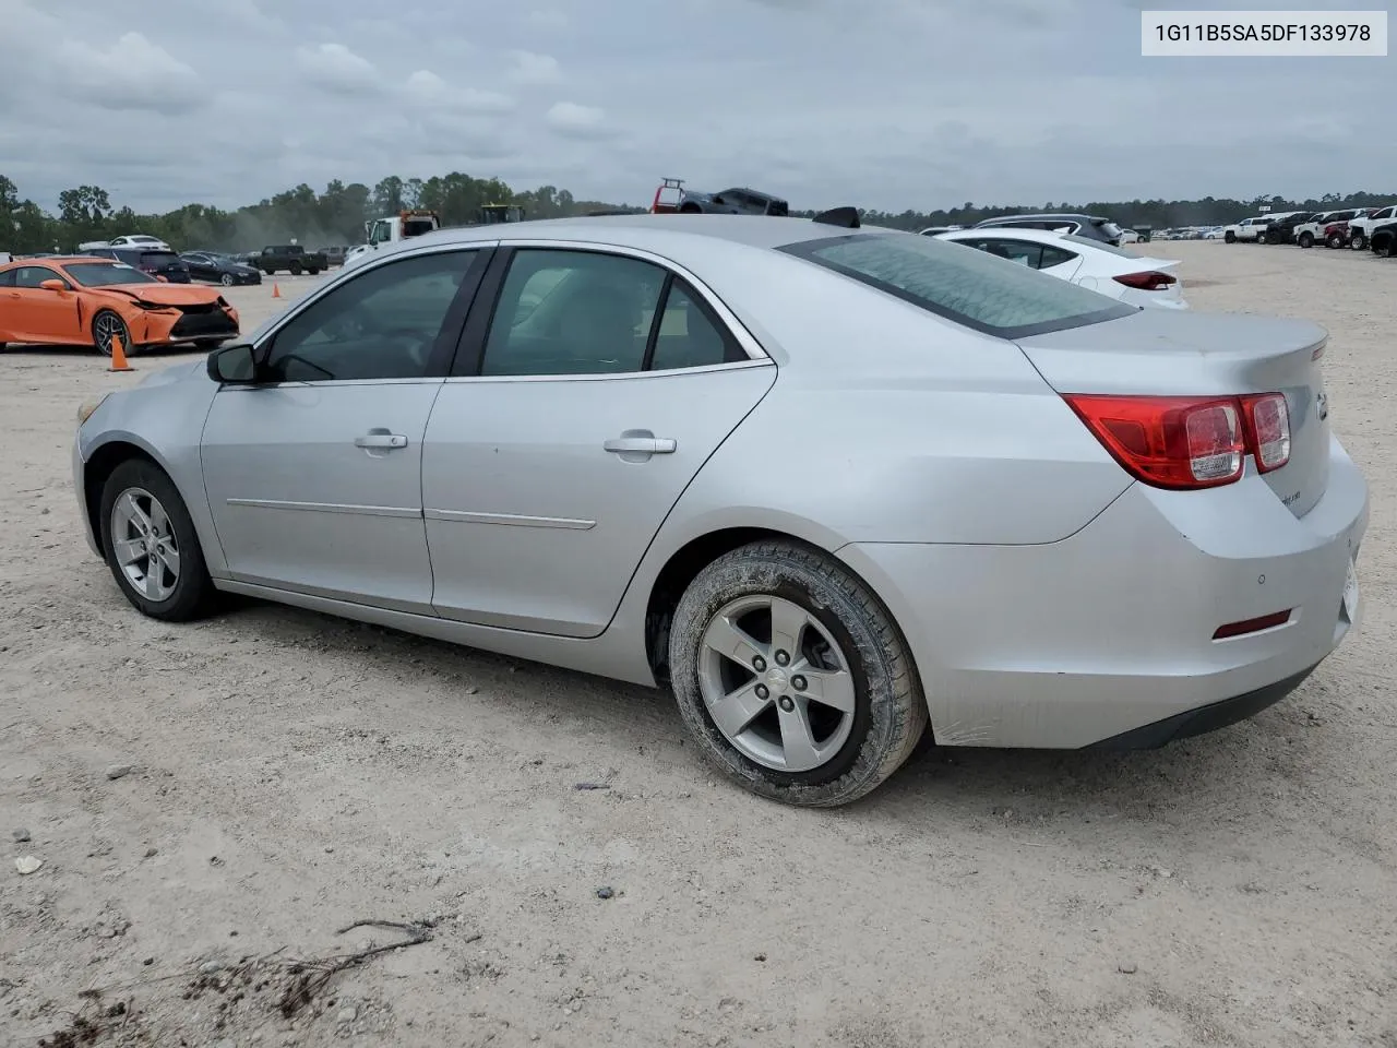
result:
[(208, 609), (214, 584), (194, 521), (159, 467), (142, 458), (117, 465), (102, 486), (99, 521), (112, 576), (141, 612), (187, 622)]

